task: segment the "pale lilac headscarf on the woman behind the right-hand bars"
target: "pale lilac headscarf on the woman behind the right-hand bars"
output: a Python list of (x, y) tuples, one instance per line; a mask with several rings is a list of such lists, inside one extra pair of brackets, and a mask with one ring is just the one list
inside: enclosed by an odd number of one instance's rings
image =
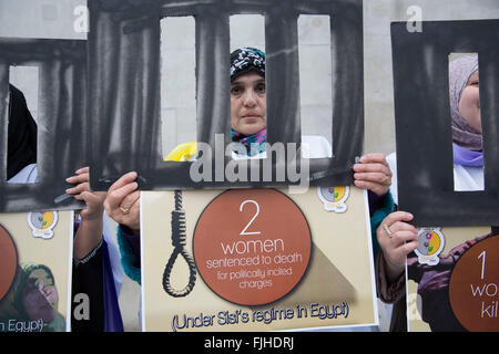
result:
[(456, 59), (449, 65), (450, 115), (452, 118), (452, 142), (460, 147), (480, 152), (482, 149), (481, 133), (475, 129), (459, 113), (459, 101), (462, 91), (471, 76), (478, 70), (478, 55), (467, 55)]

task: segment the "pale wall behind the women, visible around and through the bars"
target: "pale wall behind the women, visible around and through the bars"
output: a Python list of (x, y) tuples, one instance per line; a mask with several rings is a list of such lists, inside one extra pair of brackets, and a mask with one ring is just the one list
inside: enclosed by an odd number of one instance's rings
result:
[[(0, 37), (18, 38), (59, 38), (85, 39), (81, 29), (81, 12), (79, 7), (85, 6), (85, 0), (0, 0)], [(389, 154), (395, 149), (395, 121), (393, 98), (390, 21), (408, 21), (414, 13), (410, 7), (421, 10), (422, 20), (472, 20), (498, 19), (499, 0), (365, 0), (364, 1), (364, 54), (365, 54), (365, 152)], [(75, 12), (77, 11), (77, 12)], [(244, 20), (246, 21), (246, 20)], [(247, 20), (249, 21), (249, 20)], [(163, 24), (163, 23), (162, 23)], [(232, 48), (256, 45), (264, 48), (262, 42), (263, 25), (258, 21), (244, 22), (232, 27), (231, 33), (237, 37)], [(309, 58), (313, 63), (307, 77), (302, 80), (303, 132), (319, 134), (328, 131), (324, 127), (324, 118), (330, 111), (327, 100), (327, 85), (317, 84), (317, 77), (327, 73), (330, 75), (327, 61), (323, 58), (327, 39), (317, 35), (326, 25), (324, 19), (305, 21), (301, 39), (301, 61)], [(424, 28), (422, 28), (424, 30)], [(167, 153), (177, 143), (195, 138), (195, 104), (194, 92), (194, 32), (193, 27), (166, 30), (171, 45), (163, 48), (165, 58), (169, 51), (175, 52), (171, 63), (165, 62), (163, 72), (166, 77), (162, 83), (162, 96), (171, 92), (171, 100), (162, 100), (163, 133), (165, 144), (163, 152)], [(326, 31), (327, 32), (327, 31)], [(163, 43), (164, 44), (164, 43)], [(186, 70), (169, 70), (167, 67), (185, 67)], [(182, 64), (182, 65), (181, 65)], [(169, 66), (170, 65), (170, 66)], [(306, 65), (308, 66), (308, 65)], [(13, 73), (11, 79), (24, 91), (30, 106), (35, 110), (37, 87), (33, 84), (33, 73)], [(171, 77), (171, 79), (169, 79)], [(187, 77), (187, 79), (184, 79)], [(172, 85), (173, 84), (173, 85)], [(174, 96), (175, 94), (176, 96)], [(177, 136), (175, 138), (176, 132)], [(326, 135), (327, 137), (327, 135)], [(328, 137), (330, 138), (330, 137)], [(167, 143), (170, 142), (170, 143)], [(139, 287), (126, 281), (121, 295), (121, 308), (129, 331), (139, 330), (136, 315), (139, 306)]]

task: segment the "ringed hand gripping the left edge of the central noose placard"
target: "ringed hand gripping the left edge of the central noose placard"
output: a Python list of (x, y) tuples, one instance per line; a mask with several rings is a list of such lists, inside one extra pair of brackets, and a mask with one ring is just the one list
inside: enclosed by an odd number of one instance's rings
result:
[(104, 208), (108, 216), (118, 223), (140, 232), (140, 190), (135, 181), (138, 174), (123, 175), (108, 190)]

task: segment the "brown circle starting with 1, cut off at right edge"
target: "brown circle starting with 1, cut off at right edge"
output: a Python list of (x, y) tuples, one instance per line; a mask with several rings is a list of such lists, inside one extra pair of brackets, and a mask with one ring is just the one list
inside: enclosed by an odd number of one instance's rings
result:
[(449, 300), (454, 314), (468, 331), (499, 331), (498, 236), (462, 254), (450, 275)]

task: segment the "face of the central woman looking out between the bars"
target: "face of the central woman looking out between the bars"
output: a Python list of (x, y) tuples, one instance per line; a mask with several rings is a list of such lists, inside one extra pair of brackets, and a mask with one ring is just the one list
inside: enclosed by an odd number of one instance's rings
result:
[(243, 135), (267, 127), (265, 77), (256, 72), (241, 75), (231, 83), (231, 127)]

